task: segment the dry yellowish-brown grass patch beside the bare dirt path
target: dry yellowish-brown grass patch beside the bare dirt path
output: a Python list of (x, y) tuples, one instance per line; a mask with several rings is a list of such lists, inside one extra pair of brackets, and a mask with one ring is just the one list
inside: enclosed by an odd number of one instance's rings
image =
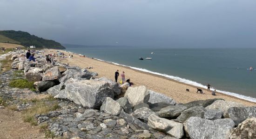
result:
[(27, 109), (23, 113), (23, 119), (25, 122), (31, 123), (31, 125), (36, 126), (37, 120), (34, 119), (35, 114), (46, 114), (49, 111), (54, 111), (59, 108), (58, 103), (53, 105), (47, 105), (45, 102), (37, 102), (33, 107)]

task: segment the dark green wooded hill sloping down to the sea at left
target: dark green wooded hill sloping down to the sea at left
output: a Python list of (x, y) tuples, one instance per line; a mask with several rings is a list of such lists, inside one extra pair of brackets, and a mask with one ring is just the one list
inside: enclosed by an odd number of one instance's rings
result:
[(36, 48), (65, 49), (64, 46), (54, 40), (39, 38), (22, 31), (0, 31), (0, 42), (21, 44), (23, 46), (35, 45)]

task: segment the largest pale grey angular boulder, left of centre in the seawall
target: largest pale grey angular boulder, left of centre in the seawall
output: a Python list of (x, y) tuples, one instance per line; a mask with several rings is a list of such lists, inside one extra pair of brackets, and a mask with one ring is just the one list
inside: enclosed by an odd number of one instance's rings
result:
[(108, 82), (81, 80), (66, 84), (66, 88), (54, 98), (68, 99), (83, 107), (100, 107), (105, 98), (114, 98)]

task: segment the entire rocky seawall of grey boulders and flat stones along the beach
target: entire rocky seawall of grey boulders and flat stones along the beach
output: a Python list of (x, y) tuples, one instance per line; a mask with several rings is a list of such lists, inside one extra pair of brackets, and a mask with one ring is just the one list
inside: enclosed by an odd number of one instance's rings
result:
[[(24, 71), (36, 91), (8, 87), (0, 95), (20, 97), (47, 93), (60, 108), (35, 114), (55, 136), (67, 139), (255, 139), (256, 107), (219, 99), (177, 104), (145, 86), (119, 85), (97, 73), (64, 63), (46, 64), (37, 53), (27, 62), (25, 51), (13, 51), (12, 70), (0, 75), (8, 81), (15, 70)], [(5, 55), (5, 56), (6, 56)], [(15, 90), (16, 89), (16, 90)], [(15, 92), (16, 93), (13, 93)], [(19, 93), (17, 93), (19, 92)], [(20, 110), (29, 105), (19, 105)]]

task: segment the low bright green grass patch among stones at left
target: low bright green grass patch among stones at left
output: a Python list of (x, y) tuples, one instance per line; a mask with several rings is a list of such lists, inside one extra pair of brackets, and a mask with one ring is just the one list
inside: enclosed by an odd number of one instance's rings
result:
[(17, 79), (13, 80), (9, 84), (12, 88), (29, 88), (34, 89), (34, 82), (29, 82), (27, 79)]

